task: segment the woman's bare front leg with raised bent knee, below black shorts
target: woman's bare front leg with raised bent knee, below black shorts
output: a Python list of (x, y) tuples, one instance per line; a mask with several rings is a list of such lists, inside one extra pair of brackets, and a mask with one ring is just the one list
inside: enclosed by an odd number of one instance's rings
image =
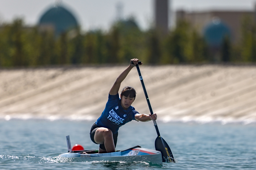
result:
[[(94, 135), (94, 141), (99, 144), (104, 144), (105, 148), (107, 150), (107, 153), (109, 152), (115, 152), (115, 144), (113, 140), (113, 133), (108, 128), (98, 128)], [(105, 153), (105, 150), (99, 149), (99, 153)]]

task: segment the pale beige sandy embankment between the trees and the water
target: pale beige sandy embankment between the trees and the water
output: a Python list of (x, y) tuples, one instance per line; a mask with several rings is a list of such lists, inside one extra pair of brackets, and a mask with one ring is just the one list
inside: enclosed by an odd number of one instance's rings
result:
[[(0, 119), (97, 119), (126, 66), (0, 70)], [(154, 113), (168, 121), (256, 121), (253, 66), (146, 66), (141, 74)], [(134, 68), (121, 87), (137, 90), (133, 106), (149, 113)]]

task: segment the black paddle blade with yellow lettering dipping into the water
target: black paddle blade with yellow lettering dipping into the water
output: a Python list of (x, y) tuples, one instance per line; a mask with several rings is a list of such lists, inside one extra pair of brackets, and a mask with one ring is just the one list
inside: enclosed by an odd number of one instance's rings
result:
[(161, 137), (158, 136), (155, 140), (155, 148), (157, 151), (160, 151), (162, 154), (163, 162), (175, 162), (173, 158), (173, 153), (166, 143), (166, 141)]

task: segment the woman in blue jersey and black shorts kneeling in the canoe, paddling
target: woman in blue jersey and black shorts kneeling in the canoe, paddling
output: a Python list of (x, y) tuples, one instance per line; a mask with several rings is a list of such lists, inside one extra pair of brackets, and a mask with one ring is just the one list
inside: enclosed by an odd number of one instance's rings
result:
[[(130, 65), (118, 76), (109, 91), (109, 99), (99, 119), (92, 125), (91, 140), (100, 144), (99, 153), (115, 152), (119, 127), (132, 120), (147, 122), (156, 120), (156, 114), (139, 114), (131, 104), (136, 97), (133, 87), (124, 87), (119, 98), (119, 88), (131, 69), (136, 66), (138, 59), (132, 59)], [(133, 64), (132, 64), (133, 62)], [(142, 64), (142, 63), (141, 63)]]

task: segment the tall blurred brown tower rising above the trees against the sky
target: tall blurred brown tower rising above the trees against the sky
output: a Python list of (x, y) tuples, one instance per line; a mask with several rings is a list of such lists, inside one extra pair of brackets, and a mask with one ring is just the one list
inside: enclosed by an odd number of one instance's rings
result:
[(169, 14), (169, 0), (155, 0), (155, 24), (156, 29), (162, 35), (168, 34), (168, 14)]

